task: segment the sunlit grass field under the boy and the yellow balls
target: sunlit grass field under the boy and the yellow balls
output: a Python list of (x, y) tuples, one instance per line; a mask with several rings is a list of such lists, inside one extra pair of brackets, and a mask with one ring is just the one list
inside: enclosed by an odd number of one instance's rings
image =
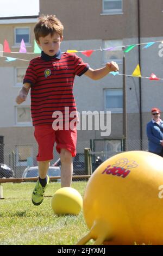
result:
[[(74, 245), (87, 233), (83, 212), (78, 216), (57, 216), (51, 199), (60, 183), (51, 182), (45, 199), (34, 206), (33, 182), (3, 184), (4, 199), (0, 200), (0, 245)], [(86, 182), (73, 182), (72, 187), (84, 194)], [(90, 243), (91, 244), (91, 241)]]

